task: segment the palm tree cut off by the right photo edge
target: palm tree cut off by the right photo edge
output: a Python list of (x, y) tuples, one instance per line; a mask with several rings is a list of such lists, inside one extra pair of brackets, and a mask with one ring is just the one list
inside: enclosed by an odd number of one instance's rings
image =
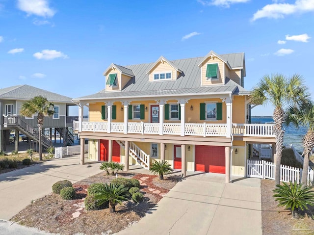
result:
[(298, 105), (289, 106), (287, 110), (286, 124), (292, 124), (296, 128), (300, 126), (308, 129), (307, 133), (303, 137), (303, 171), (301, 183), (307, 184), (309, 157), (312, 149), (314, 148), (314, 103), (311, 100), (305, 100)]

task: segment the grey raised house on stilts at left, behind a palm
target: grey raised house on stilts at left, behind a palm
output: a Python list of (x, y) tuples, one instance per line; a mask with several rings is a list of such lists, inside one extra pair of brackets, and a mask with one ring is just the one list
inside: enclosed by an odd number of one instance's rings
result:
[[(42, 135), (43, 147), (52, 145), (52, 128), (54, 128), (54, 137), (59, 132), (64, 142), (73, 143), (73, 135), (68, 128), (73, 127), (73, 117), (68, 117), (69, 105), (74, 105), (71, 98), (62, 96), (50, 91), (42, 90), (29, 85), (17, 85), (0, 89), (0, 151), (6, 149), (9, 144), (10, 130), (15, 130), (15, 149), (18, 151), (19, 133), (38, 141), (39, 133), (37, 127), (37, 116), (25, 117), (20, 115), (20, 108), (25, 101), (35, 96), (43, 96), (49, 102), (54, 104), (54, 114), (52, 117), (45, 117), (44, 129), (50, 129), (50, 137)], [(55, 140), (55, 138), (54, 138)]]

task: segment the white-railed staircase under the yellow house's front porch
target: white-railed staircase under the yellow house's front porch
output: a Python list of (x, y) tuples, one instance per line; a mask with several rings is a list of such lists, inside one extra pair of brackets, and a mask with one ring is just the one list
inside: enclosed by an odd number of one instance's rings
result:
[[(117, 143), (122, 147), (125, 147), (125, 141), (116, 140)], [(150, 155), (146, 154), (136, 144), (130, 142), (129, 155), (138, 162), (144, 169), (149, 170), (150, 168)]]

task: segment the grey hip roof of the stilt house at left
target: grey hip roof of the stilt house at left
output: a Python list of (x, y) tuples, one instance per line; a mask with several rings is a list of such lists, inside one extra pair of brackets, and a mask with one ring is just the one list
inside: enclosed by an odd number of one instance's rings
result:
[(0, 100), (30, 100), (35, 96), (46, 97), (50, 102), (69, 103), (72, 98), (29, 85), (18, 85), (0, 89)]

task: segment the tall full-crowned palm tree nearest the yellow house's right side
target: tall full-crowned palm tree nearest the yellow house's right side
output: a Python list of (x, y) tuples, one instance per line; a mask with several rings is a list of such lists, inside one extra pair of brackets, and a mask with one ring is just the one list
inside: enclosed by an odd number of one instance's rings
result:
[(307, 88), (303, 84), (303, 79), (299, 75), (293, 75), (290, 78), (282, 74), (275, 74), (271, 77), (265, 75), (256, 87), (254, 87), (250, 96), (251, 104), (267, 104), (275, 106), (273, 119), (275, 122), (276, 136), (276, 174), (275, 184), (280, 184), (280, 163), (284, 145), (285, 122), (284, 107), (287, 104), (298, 103), (300, 100), (308, 97)]

